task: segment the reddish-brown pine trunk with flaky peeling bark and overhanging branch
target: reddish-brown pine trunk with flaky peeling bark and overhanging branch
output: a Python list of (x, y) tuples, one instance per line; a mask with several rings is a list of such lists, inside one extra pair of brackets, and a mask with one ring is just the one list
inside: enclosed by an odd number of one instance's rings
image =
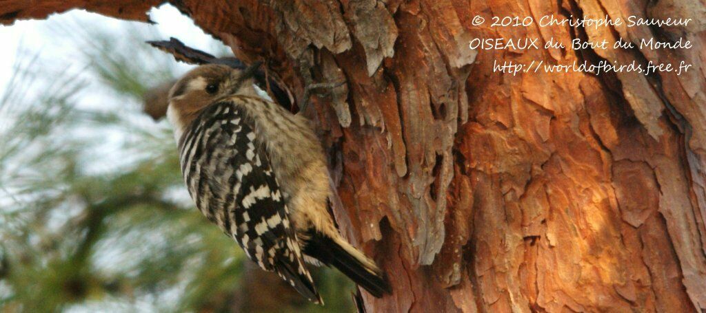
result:
[[(0, 1), (0, 21), (161, 1)], [(649, 2), (649, 3), (647, 3)], [(369, 312), (706, 310), (706, 8), (660, 1), (172, 1), (301, 97), (339, 168), (342, 231), (395, 295)], [(693, 18), (488, 27), (482, 16)], [(689, 50), (471, 51), (474, 38), (686, 37)], [(493, 61), (693, 64), (682, 75), (493, 73)], [(430, 266), (427, 266), (430, 265)]]

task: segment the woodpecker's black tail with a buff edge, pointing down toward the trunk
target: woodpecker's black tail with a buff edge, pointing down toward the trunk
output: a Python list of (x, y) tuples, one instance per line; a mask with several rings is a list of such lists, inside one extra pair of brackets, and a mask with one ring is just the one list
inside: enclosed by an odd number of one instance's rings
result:
[(342, 238), (330, 238), (317, 231), (311, 231), (307, 237), (304, 254), (335, 267), (375, 297), (392, 292), (387, 277), (375, 262)]

